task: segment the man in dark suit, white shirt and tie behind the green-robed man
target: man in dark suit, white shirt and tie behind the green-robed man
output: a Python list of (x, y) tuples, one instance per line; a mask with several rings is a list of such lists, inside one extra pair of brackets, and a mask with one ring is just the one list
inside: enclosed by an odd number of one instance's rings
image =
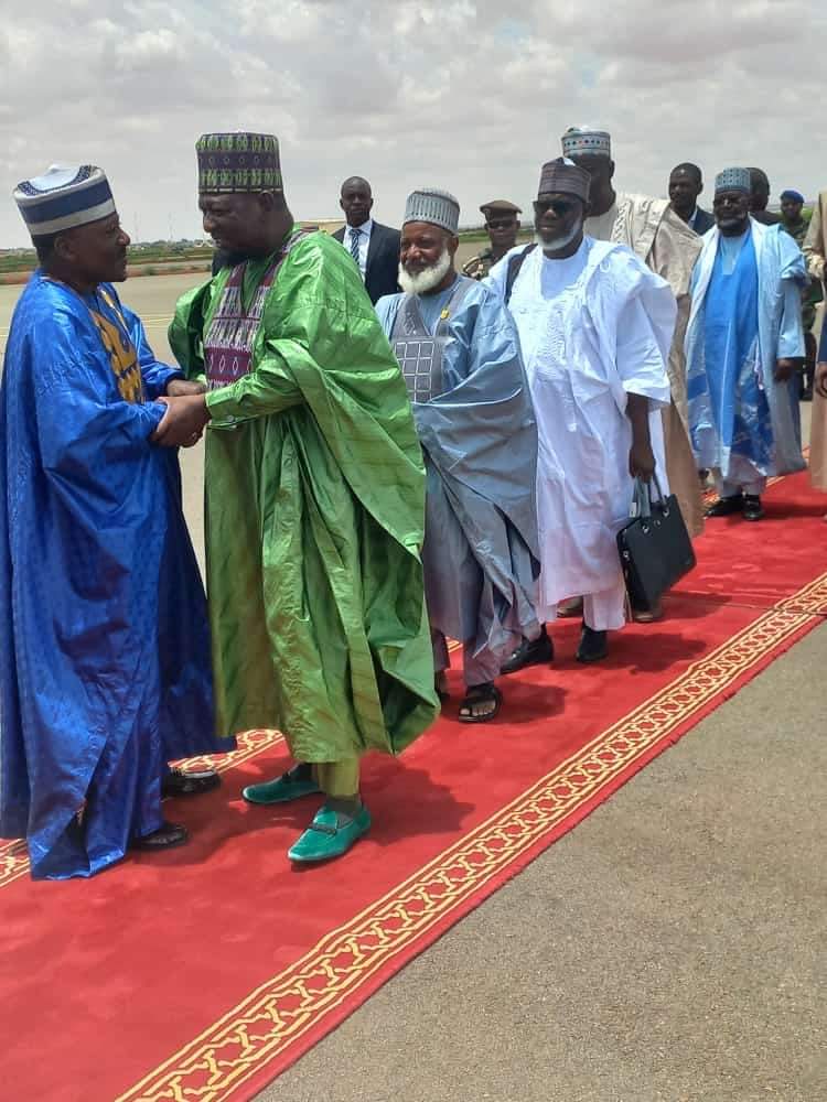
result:
[(345, 180), (339, 205), (347, 225), (333, 236), (358, 266), (370, 302), (377, 302), (383, 294), (396, 294), (399, 290), (399, 230), (380, 226), (370, 217), (374, 198), (368, 182), (361, 176)]

